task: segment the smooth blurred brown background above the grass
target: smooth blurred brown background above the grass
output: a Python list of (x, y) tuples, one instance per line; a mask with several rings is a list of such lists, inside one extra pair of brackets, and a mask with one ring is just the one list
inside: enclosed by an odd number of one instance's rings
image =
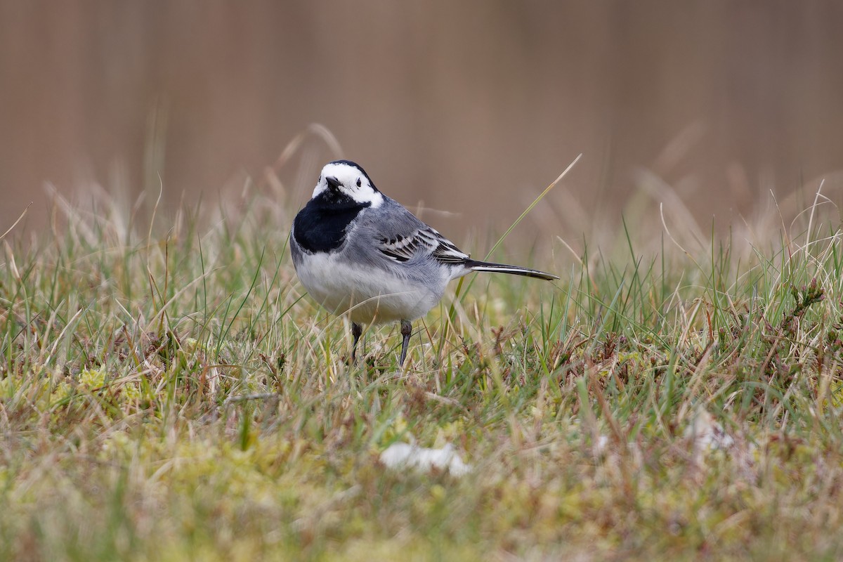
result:
[[(46, 219), (47, 184), (163, 185), (172, 209), (250, 177), (298, 208), (340, 155), (454, 211), (423, 218), (458, 240), (500, 233), (579, 153), (534, 218), (553, 233), (659, 203), (711, 232), (771, 192), (795, 212), (843, 187), (841, 29), (836, 0), (0, 0), (0, 233), (30, 201), (26, 227)], [(313, 123), (330, 134), (279, 163)]]

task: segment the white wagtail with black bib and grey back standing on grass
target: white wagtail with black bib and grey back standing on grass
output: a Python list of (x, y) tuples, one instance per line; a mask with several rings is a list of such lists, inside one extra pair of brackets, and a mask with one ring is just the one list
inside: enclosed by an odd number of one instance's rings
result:
[(553, 280), (515, 265), (472, 260), (398, 201), (382, 194), (356, 163), (325, 165), (314, 195), (290, 231), (298, 279), (330, 313), (352, 320), (352, 361), (361, 324), (400, 320), (404, 365), (412, 331), (445, 292), (448, 281), (471, 271), (497, 271)]

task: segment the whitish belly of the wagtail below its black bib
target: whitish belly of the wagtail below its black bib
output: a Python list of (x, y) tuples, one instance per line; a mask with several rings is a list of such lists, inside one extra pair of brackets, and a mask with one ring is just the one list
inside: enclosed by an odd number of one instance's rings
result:
[(384, 270), (343, 263), (334, 254), (310, 254), (296, 273), (322, 307), (348, 313), (360, 324), (420, 318), (439, 302), (448, 282), (435, 279), (421, 285)]

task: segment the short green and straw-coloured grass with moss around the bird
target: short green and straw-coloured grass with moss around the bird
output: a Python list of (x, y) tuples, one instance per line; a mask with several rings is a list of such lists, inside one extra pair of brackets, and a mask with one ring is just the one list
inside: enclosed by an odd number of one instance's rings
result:
[[(390, 327), (346, 365), (293, 205), (244, 201), (57, 200), (3, 238), (0, 559), (843, 556), (839, 217), (696, 249), (625, 224), (536, 263), (555, 284), (477, 276), (400, 374)], [(474, 471), (384, 468), (394, 442)]]

